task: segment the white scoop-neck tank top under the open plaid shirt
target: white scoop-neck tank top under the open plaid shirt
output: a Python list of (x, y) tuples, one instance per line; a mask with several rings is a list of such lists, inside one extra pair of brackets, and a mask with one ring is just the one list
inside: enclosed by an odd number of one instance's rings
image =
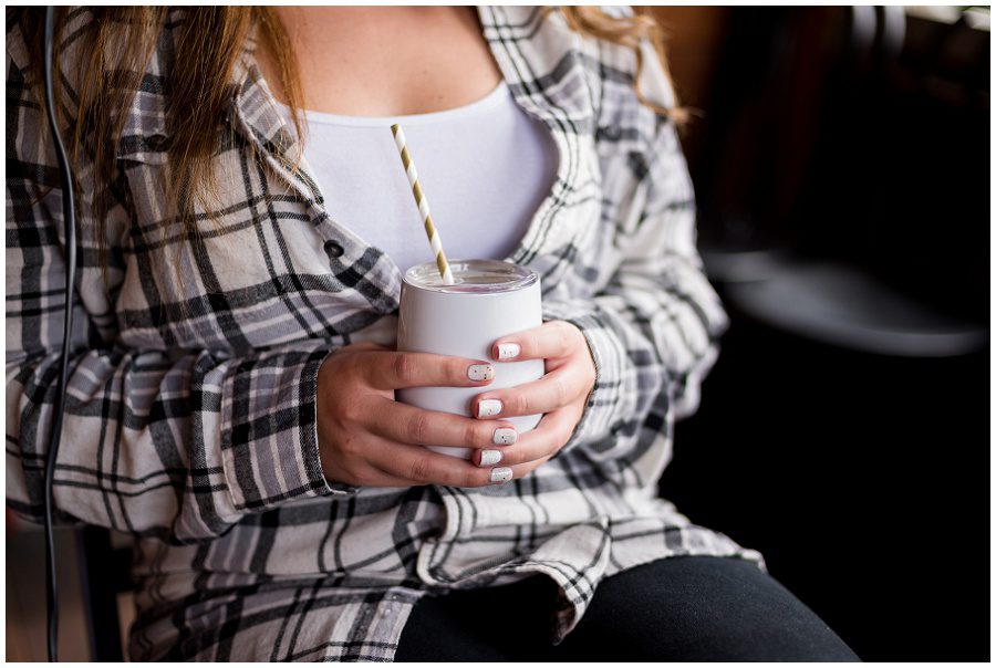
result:
[[(286, 106), (281, 111), (290, 117)], [(405, 132), (450, 259), (509, 255), (557, 175), (549, 129), (516, 104), (505, 82), (477, 102), (430, 114), (304, 115), (304, 157), (329, 215), (385, 251), (402, 271), (433, 255), (391, 134), (393, 123)]]

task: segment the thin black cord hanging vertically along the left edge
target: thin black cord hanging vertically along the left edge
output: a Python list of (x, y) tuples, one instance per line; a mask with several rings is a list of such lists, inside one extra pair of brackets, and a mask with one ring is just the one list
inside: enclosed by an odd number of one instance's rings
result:
[(62, 358), (59, 365), (59, 386), (55, 389), (55, 411), (52, 417), (52, 442), (45, 460), (45, 601), (49, 615), (49, 660), (56, 661), (59, 645), (59, 588), (55, 581), (55, 536), (52, 533), (52, 483), (55, 480), (55, 458), (62, 440), (62, 414), (65, 409), (65, 388), (69, 382), (70, 346), (73, 333), (73, 285), (76, 275), (76, 217), (73, 211), (73, 179), (65, 147), (55, 122), (55, 97), (52, 84), (52, 60), (55, 44), (55, 8), (45, 8), (45, 108), (49, 127), (59, 160), (59, 176), (62, 181), (62, 222), (65, 229), (65, 319), (62, 332)]

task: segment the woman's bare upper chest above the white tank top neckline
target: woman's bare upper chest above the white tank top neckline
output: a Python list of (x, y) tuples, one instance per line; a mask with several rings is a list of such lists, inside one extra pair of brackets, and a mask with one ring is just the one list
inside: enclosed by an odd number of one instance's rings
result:
[[(473, 7), (276, 10), (293, 43), (304, 108), (388, 116), (454, 108), (495, 88), (501, 73)], [(278, 100), (277, 51), (257, 58)]]

